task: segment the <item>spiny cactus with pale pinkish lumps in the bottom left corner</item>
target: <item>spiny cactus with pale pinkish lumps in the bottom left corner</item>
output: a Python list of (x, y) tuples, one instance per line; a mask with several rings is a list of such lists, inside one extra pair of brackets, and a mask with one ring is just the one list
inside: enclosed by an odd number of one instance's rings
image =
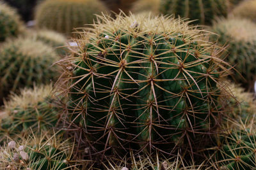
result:
[(42, 132), (16, 140), (8, 139), (0, 149), (1, 169), (71, 169), (72, 145), (60, 134)]

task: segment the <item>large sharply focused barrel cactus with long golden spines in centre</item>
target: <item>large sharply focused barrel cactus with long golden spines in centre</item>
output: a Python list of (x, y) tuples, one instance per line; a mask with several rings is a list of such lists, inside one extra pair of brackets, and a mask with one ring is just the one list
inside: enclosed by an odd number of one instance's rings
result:
[(172, 150), (212, 130), (216, 84), (227, 70), (204, 31), (172, 17), (99, 20), (81, 33), (81, 51), (61, 62), (70, 74), (71, 121), (92, 146)]

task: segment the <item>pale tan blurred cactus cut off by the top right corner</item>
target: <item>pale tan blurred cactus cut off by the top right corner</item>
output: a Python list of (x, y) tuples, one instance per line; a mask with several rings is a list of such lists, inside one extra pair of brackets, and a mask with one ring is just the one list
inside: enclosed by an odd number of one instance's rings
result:
[(238, 18), (247, 18), (256, 23), (256, 0), (241, 2), (234, 8), (232, 15)]

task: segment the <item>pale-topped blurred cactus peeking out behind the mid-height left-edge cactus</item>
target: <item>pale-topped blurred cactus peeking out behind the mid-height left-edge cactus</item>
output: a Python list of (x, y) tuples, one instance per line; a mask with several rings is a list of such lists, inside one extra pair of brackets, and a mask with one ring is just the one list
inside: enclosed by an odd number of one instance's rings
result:
[(67, 48), (65, 47), (67, 46), (67, 39), (65, 38), (65, 36), (58, 32), (51, 30), (38, 30), (33, 33), (31, 33), (31, 31), (28, 32), (28, 35), (26, 36), (36, 39), (38, 41), (43, 41), (47, 45), (52, 46), (61, 56), (67, 54)]

